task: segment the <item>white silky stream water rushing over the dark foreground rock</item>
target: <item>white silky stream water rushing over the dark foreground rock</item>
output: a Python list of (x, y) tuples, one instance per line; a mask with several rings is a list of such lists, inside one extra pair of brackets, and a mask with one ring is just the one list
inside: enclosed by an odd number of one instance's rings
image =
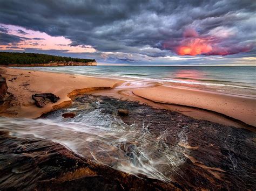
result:
[[(126, 124), (116, 115), (116, 108), (110, 111), (111, 105), (105, 101), (92, 96), (80, 97), (71, 108), (52, 112), (42, 119), (0, 118), (0, 128), (8, 129), (11, 136), (50, 139), (85, 158), (124, 172), (170, 181), (170, 174), (185, 161), (186, 148), (179, 146), (186, 142), (185, 133), (180, 131), (177, 142), (167, 145), (166, 129), (154, 135), (148, 129), (152, 124), (143, 118)], [(61, 114), (66, 111), (77, 115), (65, 119)]]

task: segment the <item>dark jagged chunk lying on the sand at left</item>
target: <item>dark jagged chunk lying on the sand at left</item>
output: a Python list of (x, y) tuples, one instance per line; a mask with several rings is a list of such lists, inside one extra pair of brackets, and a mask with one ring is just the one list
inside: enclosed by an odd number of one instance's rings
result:
[(43, 108), (46, 105), (46, 99), (50, 100), (52, 103), (56, 103), (59, 100), (59, 97), (52, 93), (42, 93), (42, 94), (33, 94), (32, 99), (35, 100), (36, 106), (38, 108)]

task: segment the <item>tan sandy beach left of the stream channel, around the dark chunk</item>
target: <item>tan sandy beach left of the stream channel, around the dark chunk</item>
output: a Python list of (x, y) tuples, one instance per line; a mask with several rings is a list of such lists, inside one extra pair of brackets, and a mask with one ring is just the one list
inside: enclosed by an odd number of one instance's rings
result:
[[(51, 110), (66, 107), (71, 104), (72, 96), (86, 91), (112, 88), (122, 81), (100, 79), (95, 77), (56, 74), (1, 67), (6, 78), (8, 91), (14, 95), (10, 108), (2, 111), (2, 116), (37, 118)], [(11, 80), (17, 77), (16, 80)], [(11, 81), (10, 81), (11, 80)], [(60, 98), (56, 103), (48, 103), (44, 108), (38, 108), (31, 95), (37, 93), (52, 93)], [(10, 115), (11, 114), (11, 115)]]

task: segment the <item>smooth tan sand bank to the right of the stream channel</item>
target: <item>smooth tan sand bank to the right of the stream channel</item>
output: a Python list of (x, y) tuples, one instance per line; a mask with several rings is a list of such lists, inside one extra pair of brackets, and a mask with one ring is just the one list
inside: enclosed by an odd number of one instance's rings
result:
[(153, 102), (185, 105), (210, 110), (256, 126), (256, 97), (167, 86), (136, 89), (132, 92), (137, 96)]

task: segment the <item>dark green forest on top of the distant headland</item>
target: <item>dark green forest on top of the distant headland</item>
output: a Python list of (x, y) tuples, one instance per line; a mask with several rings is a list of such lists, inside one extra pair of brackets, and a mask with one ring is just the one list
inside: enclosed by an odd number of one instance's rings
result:
[(21, 64), (28, 65), (32, 63), (50, 63), (50, 62), (95, 62), (95, 59), (79, 59), (64, 56), (54, 56), (49, 54), (37, 53), (18, 53), (18, 52), (0, 52), (0, 65)]

